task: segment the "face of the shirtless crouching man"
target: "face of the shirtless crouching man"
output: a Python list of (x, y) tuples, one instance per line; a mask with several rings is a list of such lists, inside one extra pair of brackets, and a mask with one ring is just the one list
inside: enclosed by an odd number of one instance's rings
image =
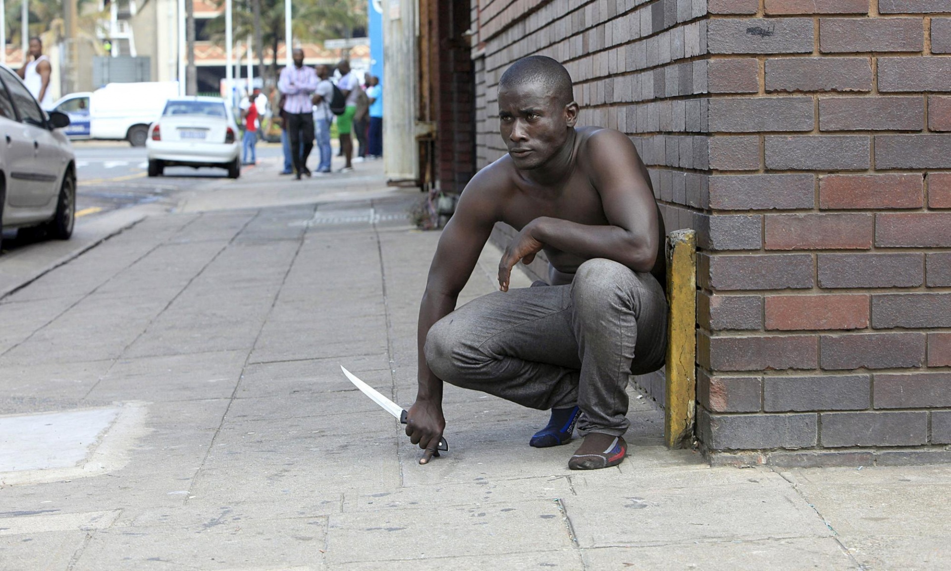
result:
[[(573, 109), (573, 106), (572, 106)], [(498, 91), (499, 132), (515, 167), (542, 167), (568, 140), (576, 110), (570, 111), (539, 84)]]

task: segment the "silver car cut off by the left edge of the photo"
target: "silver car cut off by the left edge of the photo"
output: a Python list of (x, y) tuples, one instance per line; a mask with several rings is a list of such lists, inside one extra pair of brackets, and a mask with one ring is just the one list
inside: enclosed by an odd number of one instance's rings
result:
[(47, 115), (20, 78), (0, 66), (0, 240), (3, 228), (40, 227), (68, 240), (76, 210), (76, 161), (65, 113)]

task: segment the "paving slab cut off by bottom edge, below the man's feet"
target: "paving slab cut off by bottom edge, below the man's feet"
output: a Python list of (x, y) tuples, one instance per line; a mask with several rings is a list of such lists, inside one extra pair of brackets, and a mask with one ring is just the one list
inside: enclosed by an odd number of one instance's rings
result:
[(832, 538), (690, 541), (656, 547), (601, 547), (582, 551), (587, 569), (728, 569), (730, 571), (844, 571), (859, 569)]

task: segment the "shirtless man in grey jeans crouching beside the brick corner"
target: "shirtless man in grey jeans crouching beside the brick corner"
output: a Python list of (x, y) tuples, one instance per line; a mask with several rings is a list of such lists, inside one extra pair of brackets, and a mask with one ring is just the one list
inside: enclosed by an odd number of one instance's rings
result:
[[(419, 307), (417, 401), (406, 434), (436, 454), (443, 381), (552, 410), (534, 446), (584, 442), (572, 469), (627, 452), (631, 373), (664, 364), (664, 229), (647, 168), (623, 133), (575, 127), (572, 79), (555, 60), (516, 61), (498, 82), (509, 153), (480, 170), (439, 238)], [(498, 265), (501, 291), (456, 309), (496, 222), (519, 230)], [(509, 291), (515, 264), (544, 250), (550, 285)], [(454, 310), (455, 309), (455, 310)]]

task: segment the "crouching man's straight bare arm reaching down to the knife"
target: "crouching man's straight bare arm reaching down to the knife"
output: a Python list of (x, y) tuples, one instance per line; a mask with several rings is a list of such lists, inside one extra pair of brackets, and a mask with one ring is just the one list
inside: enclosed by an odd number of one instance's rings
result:
[(492, 233), (497, 200), (492, 199), (493, 193), (489, 190), (495, 184), (494, 178), (497, 177), (492, 173), (477, 174), (463, 191), (456, 214), (439, 237), (419, 305), (419, 385), (417, 401), (410, 407), (406, 424), (410, 442), (426, 450), (419, 463), (428, 463), (433, 457), (446, 425), (442, 414), (442, 380), (426, 364), (426, 336), (430, 327), (456, 309), (459, 291), (472, 275), (479, 253)]

